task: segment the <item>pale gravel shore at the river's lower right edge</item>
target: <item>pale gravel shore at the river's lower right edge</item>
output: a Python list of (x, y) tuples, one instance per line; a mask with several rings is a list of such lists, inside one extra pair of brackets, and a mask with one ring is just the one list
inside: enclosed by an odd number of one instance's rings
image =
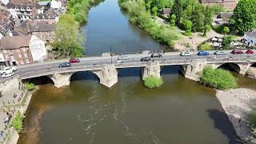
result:
[(221, 102), (238, 137), (244, 141), (252, 136), (248, 114), (256, 106), (256, 91), (245, 88), (217, 90), (216, 97)]

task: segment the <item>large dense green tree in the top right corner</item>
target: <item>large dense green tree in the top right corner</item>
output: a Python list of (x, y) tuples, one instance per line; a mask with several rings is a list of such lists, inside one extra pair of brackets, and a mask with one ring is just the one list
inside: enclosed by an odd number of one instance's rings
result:
[(240, 0), (234, 9), (234, 26), (240, 34), (256, 28), (256, 1)]

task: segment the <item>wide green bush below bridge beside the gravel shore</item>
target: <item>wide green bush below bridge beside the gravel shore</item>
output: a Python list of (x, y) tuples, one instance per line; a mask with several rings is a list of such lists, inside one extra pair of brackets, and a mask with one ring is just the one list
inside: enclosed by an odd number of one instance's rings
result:
[(228, 90), (237, 87), (237, 82), (230, 71), (213, 69), (210, 66), (206, 66), (202, 71), (200, 83), (218, 90)]

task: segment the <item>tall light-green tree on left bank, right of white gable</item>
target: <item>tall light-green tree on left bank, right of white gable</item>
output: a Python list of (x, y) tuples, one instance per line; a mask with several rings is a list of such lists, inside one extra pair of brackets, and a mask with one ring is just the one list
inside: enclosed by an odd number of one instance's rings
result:
[(55, 41), (52, 43), (54, 52), (61, 57), (81, 56), (83, 51), (81, 38), (74, 15), (61, 15), (56, 26)]

